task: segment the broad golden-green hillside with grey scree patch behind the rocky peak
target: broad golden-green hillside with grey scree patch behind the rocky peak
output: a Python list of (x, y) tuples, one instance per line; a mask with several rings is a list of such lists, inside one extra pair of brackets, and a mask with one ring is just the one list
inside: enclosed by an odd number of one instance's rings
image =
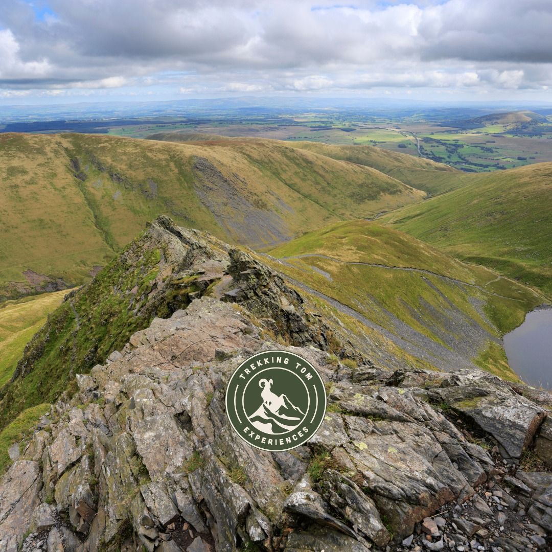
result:
[(0, 297), (80, 284), (160, 213), (260, 248), (423, 198), (280, 142), (0, 136)]

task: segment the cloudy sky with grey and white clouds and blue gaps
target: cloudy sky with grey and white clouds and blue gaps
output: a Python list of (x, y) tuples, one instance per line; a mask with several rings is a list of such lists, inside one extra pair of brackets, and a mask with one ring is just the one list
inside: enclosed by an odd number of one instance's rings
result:
[(0, 103), (552, 101), (552, 0), (0, 0)]

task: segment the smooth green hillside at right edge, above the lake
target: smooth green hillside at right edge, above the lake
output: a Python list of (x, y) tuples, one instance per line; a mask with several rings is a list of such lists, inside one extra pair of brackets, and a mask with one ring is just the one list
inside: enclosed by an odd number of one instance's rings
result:
[(552, 163), (476, 174), (381, 221), (552, 295)]

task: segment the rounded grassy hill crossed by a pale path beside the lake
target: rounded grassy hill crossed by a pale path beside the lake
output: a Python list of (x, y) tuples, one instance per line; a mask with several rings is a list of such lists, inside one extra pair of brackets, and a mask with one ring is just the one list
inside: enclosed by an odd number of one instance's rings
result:
[[(455, 335), (463, 332), (462, 328), (446, 322), (453, 320), (454, 310), (489, 335), (500, 337), (519, 325), (526, 312), (542, 302), (532, 290), (512, 280), (493, 282), (497, 276), (490, 270), (459, 262), (402, 232), (374, 222), (339, 222), (285, 243), (270, 254), (287, 257), (286, 261), (293, 264), (293, 268), (279, 265), (282, 272), (343, 302), (381, 326), (394, 331), (386, 310), (433, 341), (448, 342), (449, 346), (455, 339), (461, 341), (464, 337), (461, 333)], [(346, 262), (419, 268), (471, 286), (427, 273), (346, 264), (322, 256), (297, 257), (304, 254), (327, 255)], [(320, 270), (330, 275), (331, 280)], [(516, 378), (507, 367), (502, 348), (491, 341), (477, 351), (473, 360), (504, 378)]]

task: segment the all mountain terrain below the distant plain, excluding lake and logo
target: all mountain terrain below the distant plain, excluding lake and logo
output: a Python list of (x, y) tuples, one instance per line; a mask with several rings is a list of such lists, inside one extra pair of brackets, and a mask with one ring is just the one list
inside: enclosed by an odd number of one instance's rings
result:
[[(2, 546), (546, 545), (552, 399), (502, 337), (549, 302), (549, 164), (153, 138), (0, 136)], [(296, 455), (224, 415), (267, 348), (325, 380)]]

